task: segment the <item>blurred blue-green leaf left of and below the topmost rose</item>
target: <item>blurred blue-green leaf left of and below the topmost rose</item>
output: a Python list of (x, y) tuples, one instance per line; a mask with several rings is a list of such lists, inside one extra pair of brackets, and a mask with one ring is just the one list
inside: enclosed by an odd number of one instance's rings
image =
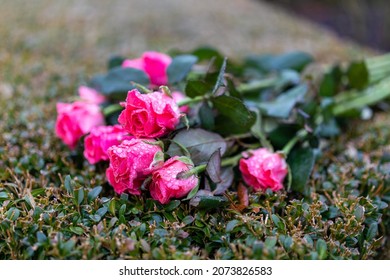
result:
[(144, 71), (128, 68), (115, 67), (107, 74), (96, 75), (91, 80), (91, 86), (99, 92), (114, 100), (124, 100), (127, 92), (136, 88), (131, 82), (149, 86), (149, 77)]

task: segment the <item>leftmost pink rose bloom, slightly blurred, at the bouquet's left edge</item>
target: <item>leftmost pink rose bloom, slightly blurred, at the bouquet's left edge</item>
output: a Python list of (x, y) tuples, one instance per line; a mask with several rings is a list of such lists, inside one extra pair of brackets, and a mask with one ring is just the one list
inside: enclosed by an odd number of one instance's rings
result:
[(76, 147), (81, 136), (92, 128), (104, 124), (104, 116), (98, 105), (77, 101), (57, 103), (56, 135), (71, 149)]

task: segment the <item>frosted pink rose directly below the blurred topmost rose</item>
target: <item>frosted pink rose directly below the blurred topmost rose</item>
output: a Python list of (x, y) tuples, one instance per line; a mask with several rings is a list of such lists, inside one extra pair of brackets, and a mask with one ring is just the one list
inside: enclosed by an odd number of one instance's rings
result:
[(135, 137), (160, 137), (175, 129), (180, 111), (173, 98), (162, 92), (141, 94), (137, 89), (128, 92), (125, 109), (118, 121)]

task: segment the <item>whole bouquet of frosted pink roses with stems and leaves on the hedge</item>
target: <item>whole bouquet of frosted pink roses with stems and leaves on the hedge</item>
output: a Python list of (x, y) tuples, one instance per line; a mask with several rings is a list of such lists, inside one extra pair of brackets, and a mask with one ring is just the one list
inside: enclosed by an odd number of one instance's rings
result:
[(57, 103), (56, 134), (90, 164), (107, 162), (118, 194), (204, 207), (225, 203), (228, 189), (308, 195), (318, 140), (390, 95), (387, 59), (335, 66), (314, 81), (301, 74), (312, 61), (301, 52), (242, 64), (212, 48), (114, 57), (78, 101)]

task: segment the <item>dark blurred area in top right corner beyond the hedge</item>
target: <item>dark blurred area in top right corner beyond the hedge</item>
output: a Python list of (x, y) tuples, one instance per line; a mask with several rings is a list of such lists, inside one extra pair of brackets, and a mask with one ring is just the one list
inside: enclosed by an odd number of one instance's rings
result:
[[(390, 50), (388, 0), (266, 0), (371, 48)], [(261, 2), (261, 1), (260, 1)]]

